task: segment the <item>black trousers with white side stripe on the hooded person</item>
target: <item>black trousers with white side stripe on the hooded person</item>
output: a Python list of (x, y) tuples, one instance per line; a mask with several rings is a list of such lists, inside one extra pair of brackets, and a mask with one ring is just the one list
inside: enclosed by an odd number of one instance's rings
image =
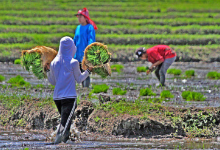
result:
[[(75, 100), (76, 100), (75, 98), (70, 98), (70, 99), (62, 99), (62, 100), (54, 101), (57, 106), (58, 112), (61, 115), (61, 122), (60, 122), (60, 127), (58, 129), (57, 135), (60, 135), (61, 133), (63, 133), (63, 130), (65, 128), (70, 112), (73, 108)], [(75, 104), (75, 109), (76, 107), (77, 107), (77, 104)], [(63, 138), (64, 142), (66, 142), (69, 139), (71, 123), (72, 123), (72, 118), (70, 119), (67, 129), (64, 133), (64, 138)]]

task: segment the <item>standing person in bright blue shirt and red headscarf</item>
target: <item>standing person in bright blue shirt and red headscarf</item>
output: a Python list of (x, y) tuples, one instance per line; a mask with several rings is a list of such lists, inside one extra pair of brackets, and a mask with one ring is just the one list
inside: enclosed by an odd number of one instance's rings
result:
[[(74, 36), (74, 43), (76, 44), (77, 51), (74, 56), (80, 63), (80, 70), (83, 72), (81, 63), (84, 56), (85, 48), (95, 42), (95, 30), (98, 28), (96, 24), (89, 18), (89, 11), (87, 8), (80, 9), (76, 14), (80, 25), (77, 26)], [(90, 77), (82, 83), (83, 87), (89, 87)]]

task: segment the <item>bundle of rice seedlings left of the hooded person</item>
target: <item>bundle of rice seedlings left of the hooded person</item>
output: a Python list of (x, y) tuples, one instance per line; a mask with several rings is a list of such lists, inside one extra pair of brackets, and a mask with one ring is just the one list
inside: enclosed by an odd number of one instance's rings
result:
[(46, 46), (37, 46), (31, 50), (23, 50), (21, 64), (27, 71), (33, 72), (38, 78), (46, 78), (46, 64), (56, 57), (57, 51)]

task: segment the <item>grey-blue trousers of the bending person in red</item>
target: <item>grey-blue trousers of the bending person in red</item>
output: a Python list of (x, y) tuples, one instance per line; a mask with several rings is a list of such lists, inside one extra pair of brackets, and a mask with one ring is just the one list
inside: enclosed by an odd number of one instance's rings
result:
[(162, 64), (157, 66), (155, 70), (155, 75), (157, 79), (160, 81), (162, 86), (165, 86), (165, 77), (167, 73), (167, 69), (171, 66), (171, 64), (176, 60), (176, 56), (173, 58), (165, 59)]

